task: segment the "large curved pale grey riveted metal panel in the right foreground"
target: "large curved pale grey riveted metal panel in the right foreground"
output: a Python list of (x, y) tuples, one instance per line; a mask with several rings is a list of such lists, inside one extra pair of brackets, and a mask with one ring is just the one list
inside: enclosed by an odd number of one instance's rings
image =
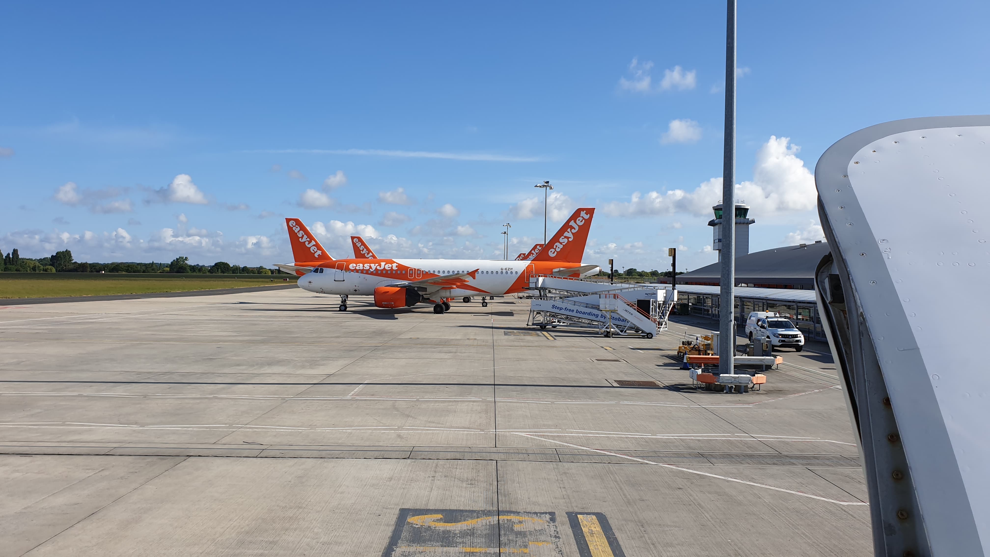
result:
[(865, 128), (815, 168), (815, 287), (876, 555), (990, 555), (987, 176), (990, 116)]

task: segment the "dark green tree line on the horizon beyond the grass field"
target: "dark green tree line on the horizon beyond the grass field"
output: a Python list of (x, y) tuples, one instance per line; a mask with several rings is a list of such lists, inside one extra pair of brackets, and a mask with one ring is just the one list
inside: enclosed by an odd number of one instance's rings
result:
[[(0, 251), (0, 253), (3, 253)], [(203, 275), (272, 275), (280, 271), (272, 271), (264, 267), (247, 267), (231, 265), (218, 261), (213, 265), (198, 265), (189, 263), (189, 258), (178, 257), (171, 263), (88, 263), (72, 259), (72, 252), (62, 250), (47, 258), (22, 258), (17, 249), (3, 256), (3, 266), (0, 271), (5, 273), (175, 273)]]

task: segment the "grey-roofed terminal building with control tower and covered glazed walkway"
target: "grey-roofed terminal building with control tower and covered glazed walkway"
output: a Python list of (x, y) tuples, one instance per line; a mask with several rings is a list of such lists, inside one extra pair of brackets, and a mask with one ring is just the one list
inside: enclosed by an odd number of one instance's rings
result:
[[(722, 252), (722, 205), (713, 207), (716, 218), (708, 223), (715, 230), (713, 249)], [(829, 244), (815, 242), (749, 253), (747, 218), (749, 207), (736, 205), (736, 322), (743, 325), (752, 311), (776, 311), (791, 319), (806, 338), (825, 341), (822, 320), (815, 301), (815, 269), (829, 254)], [(721, 264), (715, 263), (677, 276), (677, 313), (719, 318)], [(670, 283), (670, 278), (658, 282)], [(713, 326), (715, 326), (713, 324)]]

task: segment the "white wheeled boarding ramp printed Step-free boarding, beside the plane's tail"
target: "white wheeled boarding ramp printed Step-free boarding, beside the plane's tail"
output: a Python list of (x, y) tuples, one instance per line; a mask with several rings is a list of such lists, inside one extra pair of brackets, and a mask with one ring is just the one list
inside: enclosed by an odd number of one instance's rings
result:
[(653, 284), (616, 286), (601, 280), (530, 278), (528, 325), (595, 329), (605, 336), (653, 338), (667, 328), (676, 291)]

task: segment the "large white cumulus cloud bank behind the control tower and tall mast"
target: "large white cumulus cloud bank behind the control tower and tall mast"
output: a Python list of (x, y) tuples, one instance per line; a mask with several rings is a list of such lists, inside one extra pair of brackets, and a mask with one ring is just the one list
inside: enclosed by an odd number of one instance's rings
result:
[[(736, 199), (752, 208), (750, 214), (808, 211), (815, 208), (815, 177), (797, 158), (800, 151), (790, 138), (770, 139), (756, 152), (752, 181), (736, 184)], [(711, 178), (692, 191), (672, 189), (633, 194), (628, 202), (608, 203), (611, 216), (656, 216), (673, 213), (708, 215), (722, 201), (722, 178)]]

